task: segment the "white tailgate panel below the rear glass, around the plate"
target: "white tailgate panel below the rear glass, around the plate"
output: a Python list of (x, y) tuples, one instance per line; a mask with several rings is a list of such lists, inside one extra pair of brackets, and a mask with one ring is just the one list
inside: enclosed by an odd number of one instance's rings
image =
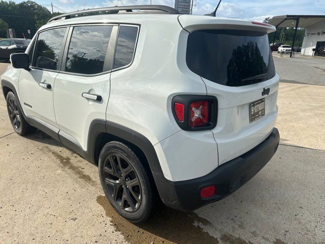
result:
[[(219, 165), (228, 162), (264, 141), (275, 126), (279, 76), (242, 87), (229, 87), (204, 79), (208, 95), (218, 99), (218, 121), (212, 130), (218, 144)], [(263, 96), (264, 89), (269, 95)], [(265, 115), (250, 123), (250, 105), (265, 99)]]

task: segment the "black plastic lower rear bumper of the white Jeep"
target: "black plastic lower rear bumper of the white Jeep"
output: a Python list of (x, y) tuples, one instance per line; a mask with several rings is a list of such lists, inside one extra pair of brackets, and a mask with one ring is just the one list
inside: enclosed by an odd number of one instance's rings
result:
[[(167, 206), (185, 211), (221, 200), (244, 185), (270, 161), (278, 148), (279, 140), (279, 132), (274, 128), (267, 139), (247, 153), (196, 179), (174, 182), (167, 180), (164, 175), (155, 174), (160, 198)], [(202, 198), (201, 189), (211, 185), (215, 186), (215, 194)]]

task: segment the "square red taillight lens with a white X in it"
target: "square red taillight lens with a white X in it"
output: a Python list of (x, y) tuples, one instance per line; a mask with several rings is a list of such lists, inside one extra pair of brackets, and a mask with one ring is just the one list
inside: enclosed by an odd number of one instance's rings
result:
[(191, 127), (205, 126), (208, 124), (209, 102), (198, 101), (190, 105), (189, 125)]

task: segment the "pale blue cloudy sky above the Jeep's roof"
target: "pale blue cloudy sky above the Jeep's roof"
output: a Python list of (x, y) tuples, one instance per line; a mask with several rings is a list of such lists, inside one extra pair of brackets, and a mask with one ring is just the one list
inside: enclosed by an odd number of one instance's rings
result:
[[(51, 0), (34, 0), (40, 5), (50, 5)], [(174, 7), (174, 0), (151, 0), (152, 4)], [(21, 2), (15, 0), (15, 2)], [(193, 14), (211, 13), (218, 0), (194, 0)], [(146, 5), (150, 0), (52, 0), (54, 11), (66, 12), (88, 8), (125, 5)], [(45, 6), (48, 7), (48, 6)], [(57, 9), (59, 8), (59, 9)], [(50, 9), (50, 8), (49, 8)], [(51, 9), (50, 9), (51, 11)], [(60, 11), (62, 12), (62, 11)], [(325, 15), (325, 0), (223, 0), (217, 16), (263, 21), (266, 17), (286, 14)]]

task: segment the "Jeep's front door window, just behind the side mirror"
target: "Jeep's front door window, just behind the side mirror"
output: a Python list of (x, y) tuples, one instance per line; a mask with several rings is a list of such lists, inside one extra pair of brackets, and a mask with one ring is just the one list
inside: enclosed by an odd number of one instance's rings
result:
[(67, 28), (49, 29), (41, 32), (36, 42), (32, 64), (34, 67), (57, 70)]

